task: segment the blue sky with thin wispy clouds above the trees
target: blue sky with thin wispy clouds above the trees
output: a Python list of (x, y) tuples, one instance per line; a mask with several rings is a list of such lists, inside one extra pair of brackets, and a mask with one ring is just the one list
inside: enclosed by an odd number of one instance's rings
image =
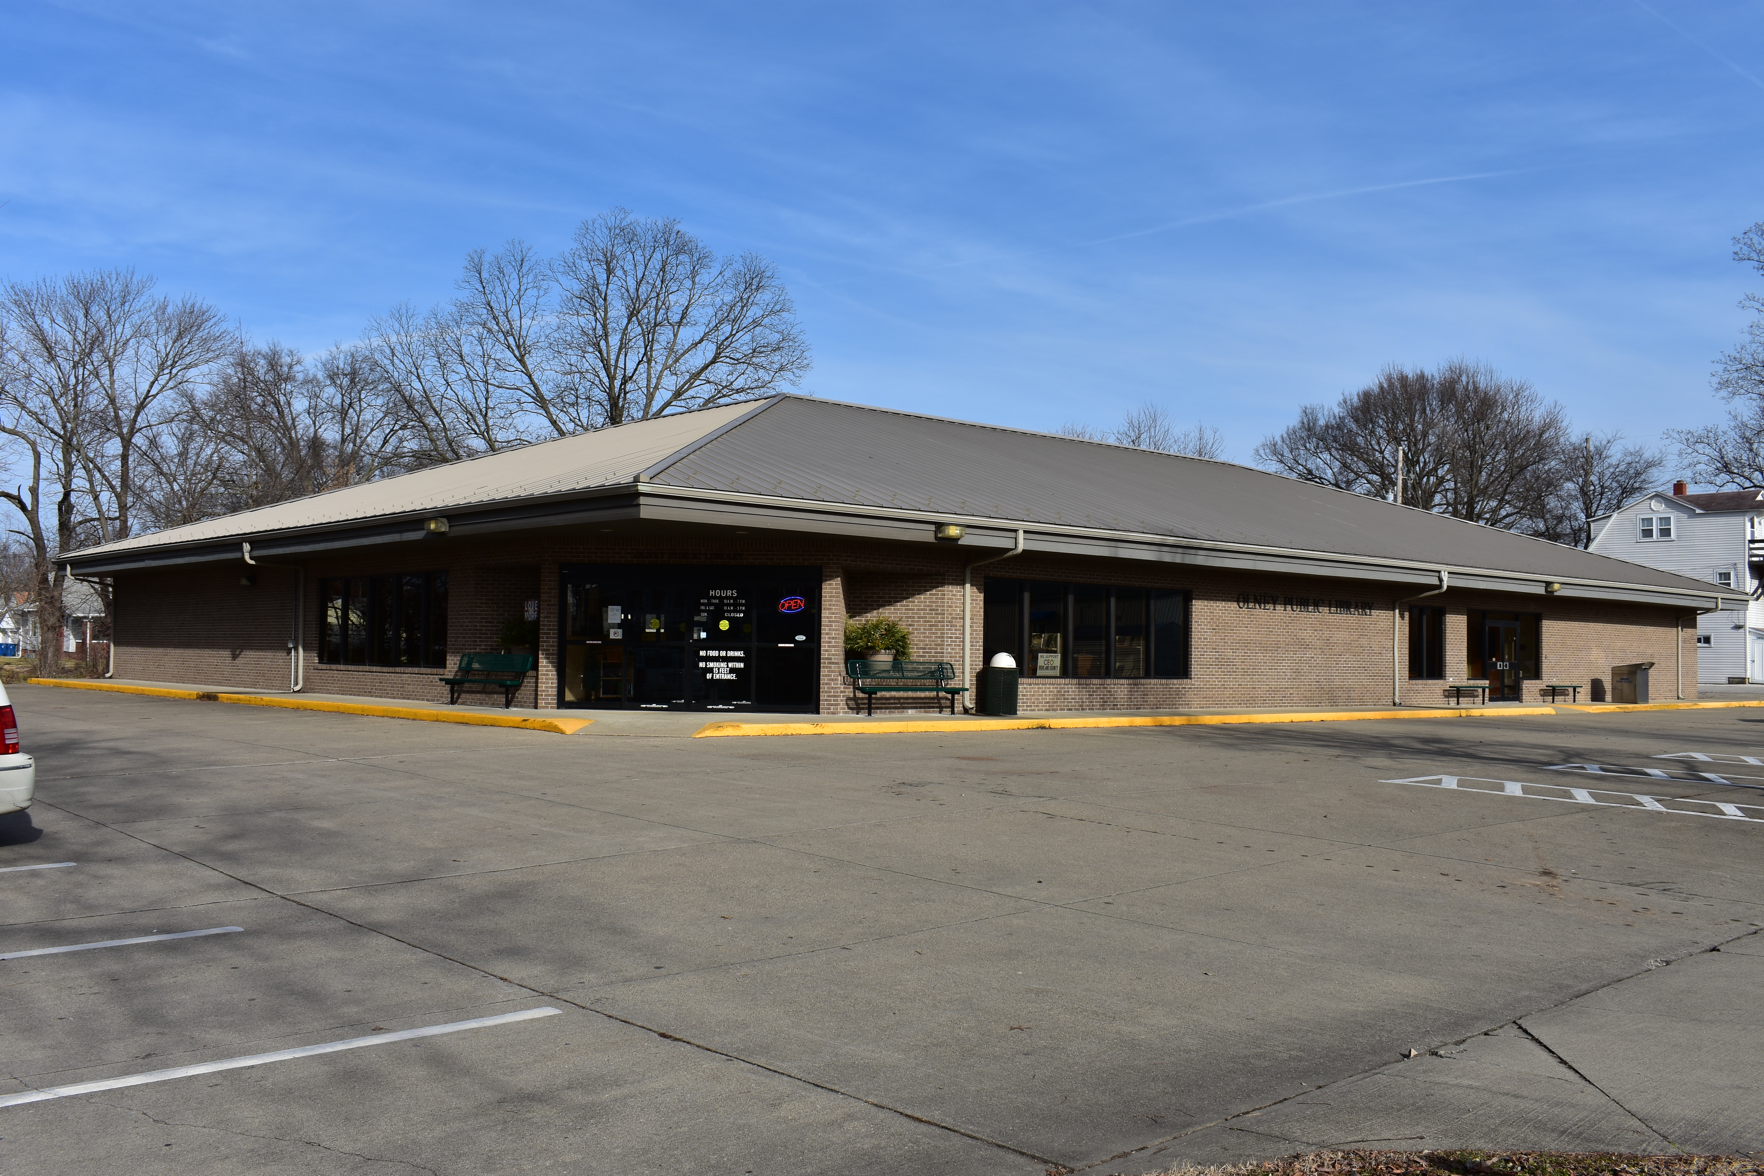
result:
[(1764, 5), (28, 4), (0, 275), (321, 349), (609, 206), (785, 275), (804, 390), (1230, 455), (1383, 363), (1715, 420), (1764, 279)]

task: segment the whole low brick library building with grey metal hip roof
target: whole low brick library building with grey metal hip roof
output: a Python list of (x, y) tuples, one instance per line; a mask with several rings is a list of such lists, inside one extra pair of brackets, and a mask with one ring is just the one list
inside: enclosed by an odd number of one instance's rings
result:
[(857, 711), (847, 622), (884, 617), (956, 684), (1011, 654), (1028, 712), (1596, 696), (1637, 661), (1693, 696), (1722, 591), (1228, 462), (797, 395), (65, 559), (115, 585), (123, 681), (445, 703), (460, 658), (508, 652), (513, 705), (714, 714)]

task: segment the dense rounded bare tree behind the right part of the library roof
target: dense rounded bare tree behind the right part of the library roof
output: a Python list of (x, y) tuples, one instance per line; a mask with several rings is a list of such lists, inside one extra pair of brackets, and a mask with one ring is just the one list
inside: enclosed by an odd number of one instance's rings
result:
[(1432, 372), (1387, 367), (1334, 409), (1304, 407), (1297, 423), (1256, 446), (1256, 460), (1394, 499), (1401, 450), (1406, 506), (1535, 532), (1558, 492), (1566, 443), (1561, 406), (1524, 381), (1454, 360)]

